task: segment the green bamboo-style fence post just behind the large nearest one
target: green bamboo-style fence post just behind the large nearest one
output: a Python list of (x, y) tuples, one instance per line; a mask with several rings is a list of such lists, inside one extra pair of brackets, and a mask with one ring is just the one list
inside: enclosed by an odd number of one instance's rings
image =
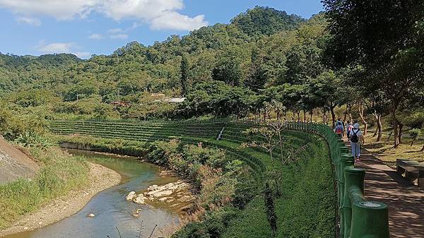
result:
[(346, 167), (344, 169), (344, 196), (343, 196), (343, 222), (344, 222), (344, 238), (349, 238), (351, 234), (351, 223), (352, 223), (352, 203), (349, 196), (350, 189), (352, 187), (357, 187), (360, 191), (364, 191), (364, 179), (365, 179), (365, 170), (356, 169), (354, 167)]

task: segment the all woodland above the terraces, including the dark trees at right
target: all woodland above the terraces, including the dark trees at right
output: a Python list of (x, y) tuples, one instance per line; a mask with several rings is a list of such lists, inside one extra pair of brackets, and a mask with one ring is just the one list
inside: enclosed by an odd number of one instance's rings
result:
[(420, 127), (396, 114), (423, 107), (423, 4), (343, 4), (324, 1), (326, 12), (310, 19), (257, 6), (229, 24), (151, 46), (129, 42), (88, 60), (0, 54), (2, 103), (46, 107), (49, 118), (146, 120), (263, 117), (267, 103), (278, 102), (290, 119), (369, 114), (380, 135), (391, 114), (396, 138), (404, 123)]

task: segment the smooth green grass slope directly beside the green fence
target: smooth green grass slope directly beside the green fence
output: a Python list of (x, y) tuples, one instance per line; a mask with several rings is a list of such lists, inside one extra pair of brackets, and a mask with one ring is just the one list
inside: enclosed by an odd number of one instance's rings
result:
[[(329, 151), (317, 136), (298, 162), (282, 169), (283, 194), (274, 196), (276, 237), (334, 237), (335, 191)], [(257, 196), (238, 213), (223, 234), (231, 237), (271, 237), (263, 196)]]

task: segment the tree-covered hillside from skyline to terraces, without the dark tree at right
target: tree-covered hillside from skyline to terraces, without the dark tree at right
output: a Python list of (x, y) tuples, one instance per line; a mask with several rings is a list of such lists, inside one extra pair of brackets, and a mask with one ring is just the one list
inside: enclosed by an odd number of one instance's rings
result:
[[(246, 114), (264, 88), (301, 83), (305, 77), (322, 73), (325, 27), (322, 14), (305, 20), (258, 6), (236, 16), (230, 24), (218, 23), (182, 37), (172, 35), (148, 47), (129, 42), (109, 56), (93, 55), (88, 60), (72, 54), (1, 54), (0, 95), (14, 90), (17, 95), (9, 98), (25, 107), (63, 101), (56, 107), (58, 113), (90, 117), (95, 107), (100, 116), (107, 117), (192, 117), (208, 112), (211, 103), (227, 110), (216, 114), (227, 116), (234, 108), (220, 104), (229, 98), (233, 105), (245, 105), (235, 111)], [(213, 102), (211, 95), (202, 97), (212, 81), (223, 82), (210, 85)], [(40, 90), (42, 93), (37, 93)], [(179, 109), (176, 105), (159, 106), (151, 93), (187, 96), (189, 100)], [(34, 95), (48, 98), (35, 99)], [(77, 101), (85, 105), (78, 106)], [(114, 101), (128, 102), (131, 108), (112, 112), (109, 104)], [(208, 107), (201, 108), (206, 104)]]

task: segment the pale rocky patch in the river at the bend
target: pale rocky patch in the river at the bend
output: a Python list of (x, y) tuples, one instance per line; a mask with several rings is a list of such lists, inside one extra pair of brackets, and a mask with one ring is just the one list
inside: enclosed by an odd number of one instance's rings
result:
[[(189, 182), (179, 179), (177, 182), (164, 185), (153, 184), (138, 194), (135, 191), (131, 191), (126, 196), (126, 200), (141, 206), (166, 206), (184, 214), (192, 210), (193, 204), (196, 201), (192, 189), (193, 187)], [(135, 210), (133, 215), (137, 216), (140, 210)]]

